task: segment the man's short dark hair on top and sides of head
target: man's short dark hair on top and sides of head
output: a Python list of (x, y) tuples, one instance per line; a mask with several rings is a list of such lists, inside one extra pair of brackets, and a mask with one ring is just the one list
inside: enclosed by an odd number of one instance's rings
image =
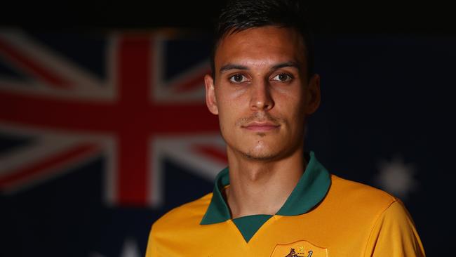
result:
[(215, 26), (210, 67), (215, 79), (215, 51), (227, 34), (268, 25), (290, 27), (302, 36), (307, 77), (314, 74), (314, 46), (304, 6), (299, 0), (231, 0), (222, 8)]

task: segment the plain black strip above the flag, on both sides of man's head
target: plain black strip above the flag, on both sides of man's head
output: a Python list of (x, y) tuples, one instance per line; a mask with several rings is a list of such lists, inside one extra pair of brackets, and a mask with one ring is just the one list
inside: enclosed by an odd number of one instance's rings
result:
[[(212, 28), (225, 1), (9, 1), (0, 22), (43, 29)], [(317, 34), (453, 34), (447, 1), (306, 1)]]

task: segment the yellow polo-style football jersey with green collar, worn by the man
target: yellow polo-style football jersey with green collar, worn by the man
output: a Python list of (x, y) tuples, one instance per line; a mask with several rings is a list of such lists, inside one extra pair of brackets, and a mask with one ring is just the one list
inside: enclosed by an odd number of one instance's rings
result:
[(229, 169), (220, 171), (212, 193), (156, 220), (146, 257), (425, 256), (399, 199), (328, 173), (314, 152), (308, 158), (302, 177), (274, 215), (233, 219), (222, 196)]

